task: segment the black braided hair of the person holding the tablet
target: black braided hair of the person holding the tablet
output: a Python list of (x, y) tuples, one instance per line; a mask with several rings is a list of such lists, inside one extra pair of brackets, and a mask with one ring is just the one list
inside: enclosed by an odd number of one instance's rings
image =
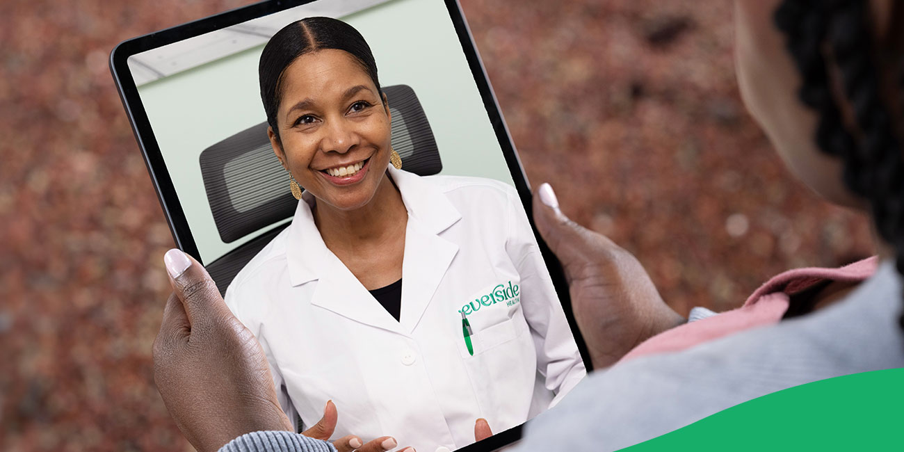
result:
[[(784, 0), (775, 22), (803, 79), (798, 97), (819, 116), (816, 145), (842, 160), (844, 184), (869, 202), (876, 231), (894, 247), (896, 268), (904, 275), (904, 159), (883, 104), (869, 2)], [(852, 106), (849, 127), (833, 99), (825, 50)], [(904, 328), (904, 315), (899, 324)]]

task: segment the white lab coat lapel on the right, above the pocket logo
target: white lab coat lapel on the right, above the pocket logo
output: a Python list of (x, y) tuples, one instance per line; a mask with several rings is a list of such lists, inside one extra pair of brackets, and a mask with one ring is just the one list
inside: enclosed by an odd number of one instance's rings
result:
[(434, 181), (392, 167), (389, 171), (408, 210), (400, 324), (410, 334), (430, 300), (440, 295), (437, 287), (458, 252), (458, 245), (442, 238), (441, 233), (460, 220), (461, 214)]

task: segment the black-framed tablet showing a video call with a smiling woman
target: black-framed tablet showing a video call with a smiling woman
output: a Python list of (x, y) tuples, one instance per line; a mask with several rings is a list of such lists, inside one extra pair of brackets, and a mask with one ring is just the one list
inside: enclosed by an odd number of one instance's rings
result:
[[(589, 370), (456, 0), (261, 2), (121, 42), (110, 69), (176, 245), (299, 431), (333, 400), (334, 438), (494, 450)], [(393, 245), (359, 259), (348, 231), (389, 212)]]

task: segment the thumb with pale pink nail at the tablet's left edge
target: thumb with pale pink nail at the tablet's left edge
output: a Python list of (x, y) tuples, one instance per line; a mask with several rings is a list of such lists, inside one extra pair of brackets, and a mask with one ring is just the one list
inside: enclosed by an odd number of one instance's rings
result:
[(190, 325), (229, 312), (220, 290), (197, 260), (180, 250), (166, 251), (166, 272), (176, 297), (182, 301)]

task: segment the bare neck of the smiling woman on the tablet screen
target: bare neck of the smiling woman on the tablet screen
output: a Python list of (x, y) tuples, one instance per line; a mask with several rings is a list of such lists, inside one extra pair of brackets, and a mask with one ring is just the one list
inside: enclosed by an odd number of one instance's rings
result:
[(314, 221), (326, 248), (330, 250), (355, 250), (361, 246), (377, 245), (387, 238), (404, 234), (408, 212), (401, 194), (384, 174), (370, 202), (352, 211), (334, 208), (326, 202), (317, 202)]

